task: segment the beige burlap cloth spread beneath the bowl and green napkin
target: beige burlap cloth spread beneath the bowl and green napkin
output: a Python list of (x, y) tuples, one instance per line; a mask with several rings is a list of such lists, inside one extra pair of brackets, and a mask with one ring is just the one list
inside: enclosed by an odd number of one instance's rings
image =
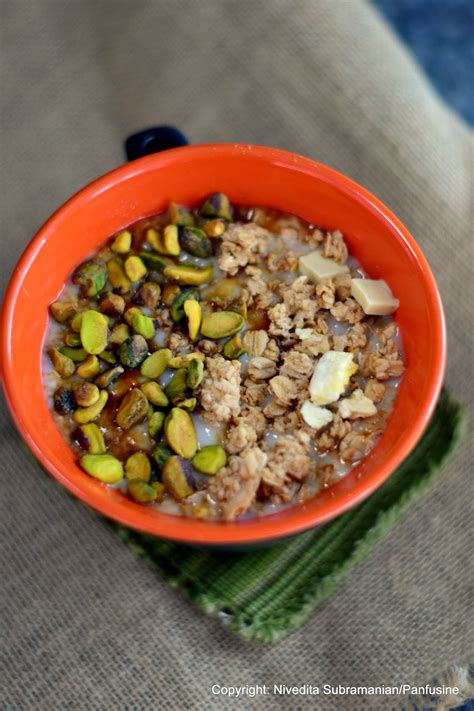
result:
[[(280, 146), (366, 185), (419, 240), (446, 306), (447, 382), (472, 403), (470, 133), (369, 5), (1, 0), (0, 8), (2, 287), (37, 227), (121, 163), (134, 130), (170, 122), (193, 142)], [(4, 407), (0, 427), (5, 708), (391, 708), (370, 697), (232, 705), (210, 687), (421, 684), (472, 652), (469, 443), (308, 624), (255, 648), (184, 602), (48, 479)]]

